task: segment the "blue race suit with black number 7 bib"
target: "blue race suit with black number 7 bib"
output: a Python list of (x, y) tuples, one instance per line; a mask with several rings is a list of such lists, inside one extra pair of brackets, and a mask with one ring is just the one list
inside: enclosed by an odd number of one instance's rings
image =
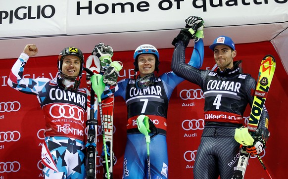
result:
[[(195, 43), (190, 65), (201, 67), (203, 60), (203, 41)], [(167, 110), (173, 89), (184, 79), (173, 72), (155, 78), (152, 86), (137, 89), (134, 79), (118, 82), (115, 96), (122, 96), (127, 105), (127, 143), (123, 162), (123, 179), (148, 179), (147, 148), (144, 134), (138, 130), (136, 120), (146, 115), (153, 121), (157, 130), (151, 130), (149, 144), (151, 179), (168, 178), (168, 154), (166, 142)]]

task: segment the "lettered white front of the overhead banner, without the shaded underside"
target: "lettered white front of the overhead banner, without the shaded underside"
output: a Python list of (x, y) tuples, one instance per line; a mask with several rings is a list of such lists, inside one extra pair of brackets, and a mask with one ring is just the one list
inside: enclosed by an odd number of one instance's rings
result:
[(287, 7), (288, 0), (1, 0), (0, 39), (179, 29), (191, 15), (210, 27), (280, 23)]

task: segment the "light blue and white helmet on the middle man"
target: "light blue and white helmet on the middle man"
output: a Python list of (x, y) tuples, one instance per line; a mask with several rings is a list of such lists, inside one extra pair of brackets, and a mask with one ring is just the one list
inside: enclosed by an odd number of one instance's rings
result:
[(155, 62), (155, 71), (159, 71), (159, 53), (157, 48), (155, 48), (155, 46), (153, 45), (149, 45), (149, 44), (144, 44), (144, 45), (140, 45), (136, 48), (135, 52), (134, 52), (134, 68), (135, 68), (135, 72), (139, 71), (139, 67), (138, 67), (138, 57), (141, 54), (153, 54), (155, 56), (156, 62)]

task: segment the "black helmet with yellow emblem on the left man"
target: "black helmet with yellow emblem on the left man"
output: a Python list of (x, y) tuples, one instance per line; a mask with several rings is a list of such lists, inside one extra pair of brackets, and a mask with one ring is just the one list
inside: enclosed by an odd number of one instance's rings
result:
[(83, 71), (83, 68), (84, 68), (84, 55), (83, 55), (82, 51), (79, 48), (76, 48), (76, 47), (73, 47), (73, 46), (66, 47), (60, 52), (60, 54), (58, 56), (58, 60), (57, 60), (58, 72), (60, 74), (62, 74), (63, 58), (65, 56), (68, 56), (68, 55), (74, 55), (74, 56), (77, 56), (80, 59), (81, 65), (80, 65), (80, 71), (79, 71), (78, 76), (82, 77), (82, 71)]

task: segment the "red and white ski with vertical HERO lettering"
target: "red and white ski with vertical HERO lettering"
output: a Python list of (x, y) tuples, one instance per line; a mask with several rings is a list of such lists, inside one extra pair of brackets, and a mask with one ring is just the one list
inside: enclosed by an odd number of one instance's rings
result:
[[(104, 133), (105, 133), (105, 141), (106, 141), (106, 149), (107, 149), (107, 162), (109, 171), (104, 168), (103, 179), (108, 179), (108, 173), (110, 179), (113, 179), (113, 165), (115, 164), (116, 160), (114, 158), (113, 153), (113, 110), (114, 110), (114, 94), (110, 95), (109, 97), (105, 98), (102, 101), (102, 113), (103, 113), (103, 123), (104, 123)], [(104, 148), (104, 146), (103, 146)], [(105, 166), (105, 158), (104, 158), (104, 151), (101, 154), (102, 158), (102, 165)]]

